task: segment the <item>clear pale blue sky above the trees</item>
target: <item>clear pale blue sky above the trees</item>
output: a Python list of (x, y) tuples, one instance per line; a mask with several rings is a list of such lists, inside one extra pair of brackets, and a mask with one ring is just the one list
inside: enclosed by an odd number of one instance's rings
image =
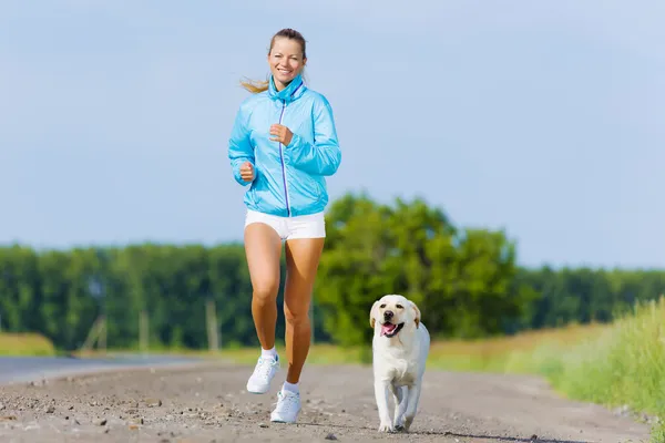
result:
[(420, 196), (520, 264), (665, 267), (662, 1), (0, 4), (0, 243), (242, 238), (226, 142), (274, 32), (308, 40), (331, 198)]

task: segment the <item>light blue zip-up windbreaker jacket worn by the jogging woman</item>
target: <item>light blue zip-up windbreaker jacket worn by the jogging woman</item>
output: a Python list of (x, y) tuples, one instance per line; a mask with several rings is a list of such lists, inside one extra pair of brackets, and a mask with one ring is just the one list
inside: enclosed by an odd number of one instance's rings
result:
[[(288, 146), (270, 141), (275, 123), (293, 132)], [(325, 177), (341, 162), (330, 104), (306, 87), (299, 75), (282, 91), (270, 78), (267, 91), (241, 104), (228, 158), (241, 185), (249, 184), (241, 178), (241, 165), (247, 161), (254, 165), (255, 177), (244, 198), (247, 208), (282, 217), (323, 212), (328, 204)]]

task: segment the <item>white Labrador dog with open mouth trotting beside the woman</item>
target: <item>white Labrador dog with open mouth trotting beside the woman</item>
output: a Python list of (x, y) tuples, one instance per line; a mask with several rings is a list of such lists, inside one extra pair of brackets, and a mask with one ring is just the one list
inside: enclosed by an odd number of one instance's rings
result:
[[(409, 431), (420, 400), (430, 336), (420, 321), (420, 309), (400, 295), (375, 301), (369, 313), (374, 328), (372, 367), (379, 410), (379, 432)], [(388, 395), (395, 400), (390, 420)]]

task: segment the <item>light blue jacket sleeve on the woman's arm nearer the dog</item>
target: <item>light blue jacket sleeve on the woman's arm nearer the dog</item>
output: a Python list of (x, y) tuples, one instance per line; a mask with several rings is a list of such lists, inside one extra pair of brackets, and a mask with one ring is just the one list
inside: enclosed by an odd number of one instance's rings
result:
[(332, 175), (341, 163), (332, 109), (323, 99), (314, 110), (314, 144), (298, 134), (293, 135), (286, 147), (290, 164), (315, 175)]

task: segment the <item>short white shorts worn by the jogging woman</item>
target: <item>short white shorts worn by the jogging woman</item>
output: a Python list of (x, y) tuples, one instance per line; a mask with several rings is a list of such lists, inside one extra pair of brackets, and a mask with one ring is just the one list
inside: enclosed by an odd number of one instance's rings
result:
[(253, 223), (264, 223), (270, 226), (283, 240), (326, 237), (324, 213), (300, 215), (297, 217), (278, 217), (248, 209), (245, 216), (245, 227)]

